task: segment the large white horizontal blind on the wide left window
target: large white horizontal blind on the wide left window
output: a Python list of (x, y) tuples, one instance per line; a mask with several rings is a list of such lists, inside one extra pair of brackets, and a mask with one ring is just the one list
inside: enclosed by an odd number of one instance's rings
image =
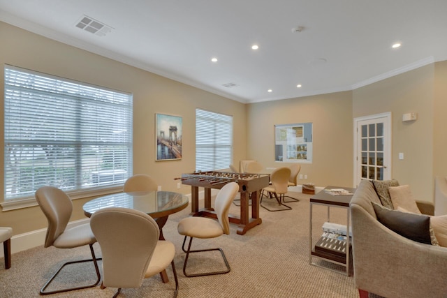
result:
[(122, 184), (132, 173), (131, 94), (5, 66), (4, 198)]

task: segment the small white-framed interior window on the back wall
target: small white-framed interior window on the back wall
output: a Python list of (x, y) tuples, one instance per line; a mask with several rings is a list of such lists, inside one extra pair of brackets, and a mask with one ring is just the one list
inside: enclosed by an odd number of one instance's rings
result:
[(274, 161), (312, 163), (312, 123), (275, 125)]

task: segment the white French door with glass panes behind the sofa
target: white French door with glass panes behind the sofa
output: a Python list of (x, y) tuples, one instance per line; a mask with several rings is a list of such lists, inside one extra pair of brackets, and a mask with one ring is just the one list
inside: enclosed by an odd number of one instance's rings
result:
[(354, 186), (391, 176), (391, 113), (354, 119)]

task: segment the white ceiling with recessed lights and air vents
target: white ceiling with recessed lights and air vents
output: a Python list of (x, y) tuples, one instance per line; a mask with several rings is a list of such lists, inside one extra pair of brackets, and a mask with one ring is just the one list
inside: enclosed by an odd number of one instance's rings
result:
[[(446, 60), (446, 12), (446, 0), (0, 0), (3, 22), (242, 103)], [(110, 31), (76, 27), (84, 16)]]

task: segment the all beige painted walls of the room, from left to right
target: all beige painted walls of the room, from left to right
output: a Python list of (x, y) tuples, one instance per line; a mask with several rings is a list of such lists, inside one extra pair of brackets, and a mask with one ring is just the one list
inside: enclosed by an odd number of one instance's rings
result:
[[(447, 175), (447, 61), (424, 66), (354, 91), (291, 98), (243, 105), (186, 84), (168, 80), (84, 50), (58, 43), (0, 22), (0, 62), (68, 77), (133, 93), (134, 173), (152, 174), (164, 190), (175, 190), (178, 177), (195, 167), (195, 109), (233, 115), (234, 156), (256, 159), (264, 167), (288, 165), (274, 161), (274, 125), (312, 122), (313, 162), (302, 165), (302, 174), (317, 186), (353, 185), (353, 119), (392, 112), (393, 177), (410, 184), (415, 197), (433, 200), (434, 175)], [(3, 90), (3, 71), (0, 90)], [(3, 101), (3, 92), (0, 92)], [(184, 147), (181, 161), (155, 162), (154, 114), (183, 117)], [(402, 114), (417, 112), (418, 120), (403, 123)], [(3, 124), (3, 111), (0, 112)], [(3, 147), (3, 129), (0, 144)], [(403, 152), (405, 159), (397, 158)], [(3, 168), (3, 158), (0, 158)], [(3, 171), (0, 171), (3, 191)], [(180, 190), (189, 193), (190, 188)], [(72, 220), (84, 218), (75, 200)], [(0, 213), (0, 226), (21, 234), (47, 223), (38, 207)]]

